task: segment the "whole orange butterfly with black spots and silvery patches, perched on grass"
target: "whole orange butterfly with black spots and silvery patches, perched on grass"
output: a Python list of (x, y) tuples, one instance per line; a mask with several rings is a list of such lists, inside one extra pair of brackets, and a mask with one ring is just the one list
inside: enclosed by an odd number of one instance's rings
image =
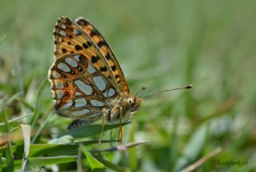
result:
[(58, 115), (70, 128), (102, 119), (122, 123), (143, 102), (130, 94), (122, 68), (102, 34), (83, 18), (62, 17), (54, 26), (54, 64), (49, 79)]

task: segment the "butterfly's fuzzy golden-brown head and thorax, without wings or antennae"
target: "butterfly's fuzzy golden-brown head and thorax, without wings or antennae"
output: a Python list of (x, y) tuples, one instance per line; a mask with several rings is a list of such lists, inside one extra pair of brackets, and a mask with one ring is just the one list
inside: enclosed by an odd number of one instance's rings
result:
[(123, 122), (130, 119), (142, 104), (142, 98), (133, 97), (127, 94), (112, 100), (110, 108), (106, 109), (106, 120), (109, 123)]

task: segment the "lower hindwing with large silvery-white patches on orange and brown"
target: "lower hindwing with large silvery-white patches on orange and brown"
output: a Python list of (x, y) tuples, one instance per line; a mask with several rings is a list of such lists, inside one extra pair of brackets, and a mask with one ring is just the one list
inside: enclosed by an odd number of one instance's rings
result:
[(50, 68), (51, 89), (58, 115), (92, 123), (118, 96), (113, 83), (82, 54), (59, 57)]

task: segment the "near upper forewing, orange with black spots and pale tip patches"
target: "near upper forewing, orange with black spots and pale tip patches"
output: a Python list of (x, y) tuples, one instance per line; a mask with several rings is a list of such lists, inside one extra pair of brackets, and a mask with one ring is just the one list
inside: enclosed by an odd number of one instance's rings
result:
[(62, 58), (63, 55), (80, 53), (120, 92), (116, 80), (117, 76), (114, 76), (98, 45), (76, 22), (66, 17), (58, 19), (54, 27), (54, 45), (56, 60)]

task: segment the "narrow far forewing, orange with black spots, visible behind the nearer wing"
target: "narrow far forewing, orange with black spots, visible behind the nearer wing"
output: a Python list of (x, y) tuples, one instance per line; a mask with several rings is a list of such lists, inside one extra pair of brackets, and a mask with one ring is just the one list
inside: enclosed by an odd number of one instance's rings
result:
[(77, 22), (78, 25), (80, 25), (82, 29), (94, 40), (103, 56), (106, 57), (106, 60), (117, 80), (119, 89), (122, 92), (129, 93), (129, 88), (126, 78), (123, 75), (122, 68), (114, 57), (114, 53), (111, 51), (110, 46), (106, 43), (104, 37), (102, 37), (102, 34), (98, 32), (98, 29), (96, 29), (94, 25), (90, 24), (90, 22), (86, 21), (84, 18), (77, 18), (75, 22)]

